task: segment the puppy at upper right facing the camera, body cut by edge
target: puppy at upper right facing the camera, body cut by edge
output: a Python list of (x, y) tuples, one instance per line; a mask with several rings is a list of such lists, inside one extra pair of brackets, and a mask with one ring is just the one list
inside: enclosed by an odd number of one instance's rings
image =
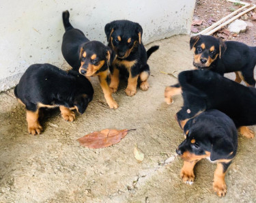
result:
[(235, 41), (223, 42), (210, 35), (196, 35), (190, 38), (190, 49), (194, 51), (193, 65), (198, 69), (210, 69), (221, 75), (236, 72), (236, 82), (244, 80), (247, 86), (255, 87), (256, 47)]

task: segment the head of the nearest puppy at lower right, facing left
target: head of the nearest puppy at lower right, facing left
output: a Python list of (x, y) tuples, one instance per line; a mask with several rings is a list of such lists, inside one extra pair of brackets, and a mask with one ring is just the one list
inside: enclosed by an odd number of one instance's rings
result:
[(176, 153), (184, 161), (204, 158), (210, 161), (232, 159), (236, 154), (236, 144), (234, 144), (236, 142), (232, 138), (237, 135), (234, 124), (231, 128), (229, 130), (227, 123), (223, 123), (221, 117), (212, 112), (203, 112), (186, 123), (184, 127), (186, 139), (177, 147)]

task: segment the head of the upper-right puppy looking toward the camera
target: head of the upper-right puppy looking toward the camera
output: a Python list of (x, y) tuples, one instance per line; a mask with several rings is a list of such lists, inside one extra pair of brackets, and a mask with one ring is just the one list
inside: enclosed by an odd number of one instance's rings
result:
[(212, 62), (223, 57), (225, 42), (209, 35), (196, 35), (190, 38), (190, 49), (194, 51), (193, 65), (199, 69), (207, 69)]

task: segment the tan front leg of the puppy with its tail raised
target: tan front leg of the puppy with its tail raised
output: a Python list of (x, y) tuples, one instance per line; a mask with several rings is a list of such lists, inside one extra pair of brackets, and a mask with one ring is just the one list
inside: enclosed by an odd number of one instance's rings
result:
[(106, 76), (108, 75), (108, 71), (100, 72), (98, 74), (100, 80), (100, 87), (104, 93), (104, 97), (106, 99), (106, 103), (110, 108), (118, 108), (117, 101), (115, 101), (112, 97), (112, 91), (109, 87), (109, 84), (106, 82)]

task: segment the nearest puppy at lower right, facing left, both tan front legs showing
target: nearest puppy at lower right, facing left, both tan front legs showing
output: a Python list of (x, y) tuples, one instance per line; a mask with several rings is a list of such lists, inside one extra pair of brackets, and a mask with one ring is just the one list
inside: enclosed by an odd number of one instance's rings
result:
[(218, 196), (225, 196), (225, 173), (238, 148), (235, 124), (223, 112), (208, 110), (188, 120), (184, 126), (184, 134), (186, 140), (176, 149), (177, 154), (184, 159), (180, 172), (184, 183), (193, 184), (194, 166), (197, 161), (206, 158), (217, 163), (213, 188)]

